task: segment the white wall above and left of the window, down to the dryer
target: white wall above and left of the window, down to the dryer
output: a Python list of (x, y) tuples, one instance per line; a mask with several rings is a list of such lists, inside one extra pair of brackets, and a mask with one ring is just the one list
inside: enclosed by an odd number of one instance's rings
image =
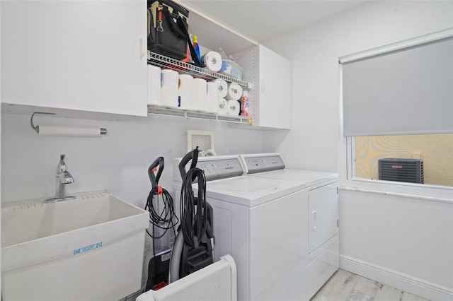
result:
[(292, 131), (265, 133), (285, 163), (338, 170), (338, 57), (453, 26), (453, 1), (371, 1), (263, 43), (292, 61)]

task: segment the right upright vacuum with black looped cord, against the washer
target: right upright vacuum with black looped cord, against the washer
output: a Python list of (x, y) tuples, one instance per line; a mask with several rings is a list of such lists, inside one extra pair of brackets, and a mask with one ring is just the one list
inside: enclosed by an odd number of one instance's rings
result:
[[(189, 170), (185, 165), (192, 160)], [(170, 259), (169, 283), (212, 264), (214, 228), (212, 206), (206, 201), (205, 172), (197, 168), (198, 147), (179, 163), (183, 184), (180, 196), (180, 227)], [(197, 183), (197, 195), (193, 183)]]

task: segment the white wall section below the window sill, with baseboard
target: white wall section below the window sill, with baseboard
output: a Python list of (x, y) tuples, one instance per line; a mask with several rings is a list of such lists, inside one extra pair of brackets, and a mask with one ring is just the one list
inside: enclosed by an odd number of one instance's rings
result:
[(340, 191), (340, 267), (453, 299), (453, 203)]

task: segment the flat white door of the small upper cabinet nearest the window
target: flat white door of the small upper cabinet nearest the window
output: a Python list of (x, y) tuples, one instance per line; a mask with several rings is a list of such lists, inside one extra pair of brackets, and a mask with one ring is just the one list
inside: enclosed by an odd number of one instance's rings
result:
[(291, 129), (291, 62), (259, 45), (259, 125)]

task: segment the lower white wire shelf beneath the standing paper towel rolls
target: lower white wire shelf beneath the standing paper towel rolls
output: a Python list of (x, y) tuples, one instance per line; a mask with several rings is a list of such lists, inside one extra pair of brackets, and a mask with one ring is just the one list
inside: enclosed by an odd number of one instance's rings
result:
[(217, 120), (222, 122), (235, 122), (241, 124), (252, 124), (250, 117), (236, 116), (236, 115), (223, 115), (210, 112), (183, 110), (176, 107), (164, 107), (160, 105), (148, 105), (149, 114), (158, 114), (165, 116), (176, 116), (193, 119)]

